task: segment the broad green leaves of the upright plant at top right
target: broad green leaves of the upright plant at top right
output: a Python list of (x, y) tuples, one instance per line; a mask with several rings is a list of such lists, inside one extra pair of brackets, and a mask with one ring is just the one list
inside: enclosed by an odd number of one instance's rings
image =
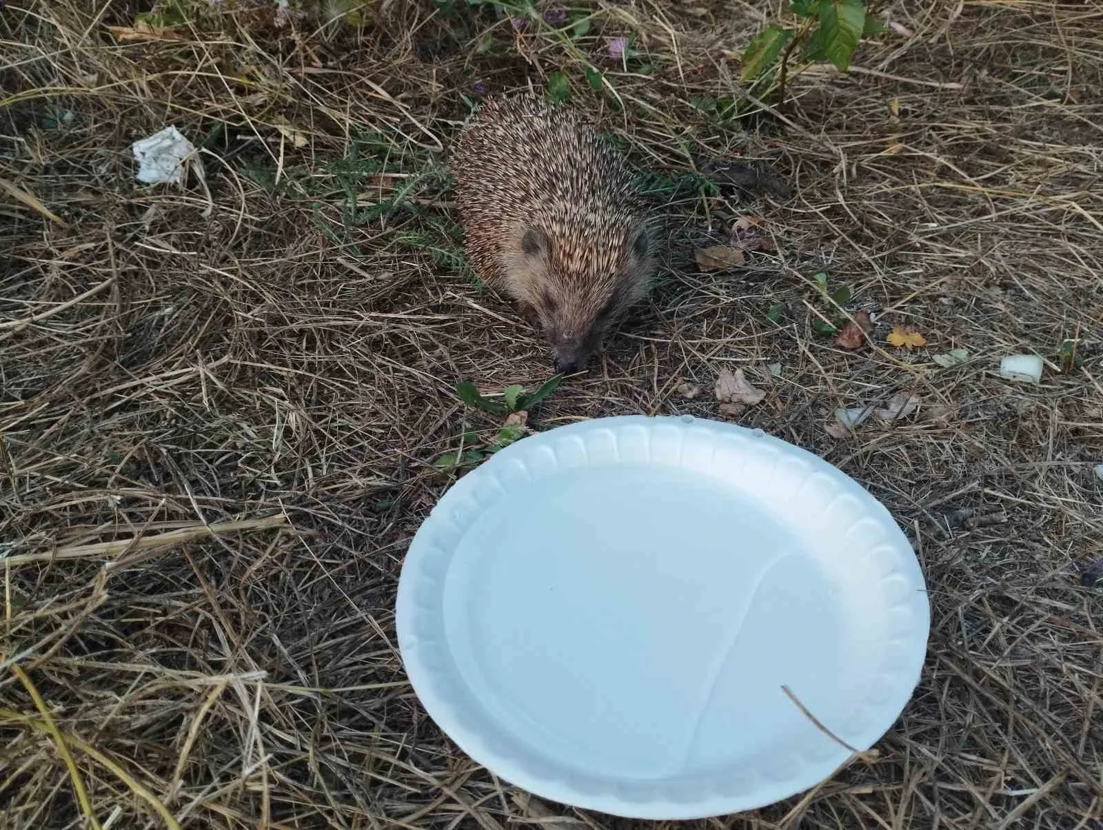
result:
[(777, 89), (781, 102), (790, 60), (799, 47), (801, 64), (793, 75), (816, 61), (831, 61), (845, 72), (858, 42), (886, 31), (863, 0), (792, 0), (789, 8), (796, 18), (794, 25), (768, 25), (747, 46), (740, 71), (743, 82), (765, 86), (765, 95)]

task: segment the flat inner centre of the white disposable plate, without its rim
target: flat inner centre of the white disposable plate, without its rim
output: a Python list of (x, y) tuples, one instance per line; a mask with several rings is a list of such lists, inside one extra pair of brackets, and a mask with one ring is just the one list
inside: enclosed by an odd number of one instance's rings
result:
[(620, 780), (823, 742), (780, 687), (842, 717), (850, 625), (822, 557), (779, 514), (751, 483), (647, 464), (497, 500), (456, 551), (443, 610), (500, 737)]

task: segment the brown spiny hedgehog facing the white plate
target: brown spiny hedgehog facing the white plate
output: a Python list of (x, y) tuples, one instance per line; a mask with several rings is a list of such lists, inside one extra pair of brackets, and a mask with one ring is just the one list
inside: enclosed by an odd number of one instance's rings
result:
[(654, 228), (598, 132), (529, 93), (488, 98), (449, 159), (468, 259), (577, 372), (655, 273)]

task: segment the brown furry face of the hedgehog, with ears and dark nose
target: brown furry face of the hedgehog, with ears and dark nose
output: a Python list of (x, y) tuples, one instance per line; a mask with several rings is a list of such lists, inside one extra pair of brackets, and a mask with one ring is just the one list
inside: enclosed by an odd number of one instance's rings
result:
[(655, 267), (652, 233), (643, 222), (606, 235), (600, 246), (520, 225), (502, 260), (510, 292), (543, 330), (560, 372), (585, 368), (610, 328), (646, 295)]

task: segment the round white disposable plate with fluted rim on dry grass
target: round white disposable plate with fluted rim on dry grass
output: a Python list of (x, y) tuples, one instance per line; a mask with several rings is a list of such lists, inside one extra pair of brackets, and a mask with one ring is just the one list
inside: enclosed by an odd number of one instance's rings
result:
[(892, 725), (930, 610), (866, 490), (777, 438), (684, 417), (525, 438), (418, 531), (398, 643), (429, 715), (537, 796), (682, 819), (772, 804)]

